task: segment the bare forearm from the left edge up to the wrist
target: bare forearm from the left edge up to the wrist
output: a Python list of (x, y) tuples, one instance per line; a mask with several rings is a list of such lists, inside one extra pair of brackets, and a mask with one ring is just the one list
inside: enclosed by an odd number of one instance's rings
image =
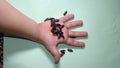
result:
[(0, 32), (36, 41), (38, 25), (6, 0), (0, 0)]

